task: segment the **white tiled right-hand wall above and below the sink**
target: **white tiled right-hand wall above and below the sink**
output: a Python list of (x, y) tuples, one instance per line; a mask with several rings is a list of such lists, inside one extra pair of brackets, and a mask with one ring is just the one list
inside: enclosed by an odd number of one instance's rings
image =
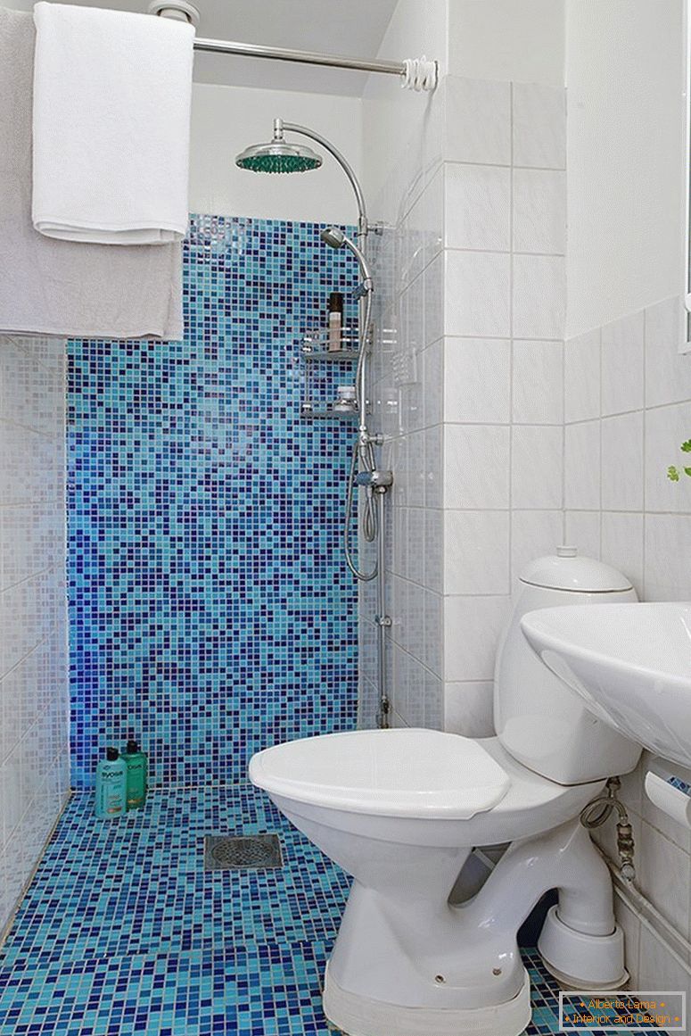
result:
[[(691, 355), (680, 298), (565, 343), (566, 519), (583, 552), (624, 572), (642, 600), (691, 596), (691, 479), (667, 478), (689, 466)], [(647, 753), (624, 780), (636, 841), (637, 886), (672, 929), (691, 939), (691, 835), (647, 798)], [(597, 835), (615, 858), (611, 831)], [(691, 957), (674, 957), (664, 932), (641, 924), (619, 901), (627, 967), (639, 988), (691, 991)]]

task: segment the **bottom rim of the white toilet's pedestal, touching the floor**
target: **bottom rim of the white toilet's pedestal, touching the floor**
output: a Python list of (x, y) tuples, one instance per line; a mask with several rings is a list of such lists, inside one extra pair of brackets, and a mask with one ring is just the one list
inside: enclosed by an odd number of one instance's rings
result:
[(531, 1020), (531, 983), (505, 1004), (464, 1010), (401, 1007), (341, 989), (324, 978), (324, 1013), (347, 1036), (519, 1036)]

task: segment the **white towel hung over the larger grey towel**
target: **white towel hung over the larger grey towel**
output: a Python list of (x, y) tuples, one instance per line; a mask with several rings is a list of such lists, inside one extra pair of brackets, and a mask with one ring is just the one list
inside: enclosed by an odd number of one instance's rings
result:
[(101, 244), (187, 229), (190, 25), (37, 3), (33, 225)]

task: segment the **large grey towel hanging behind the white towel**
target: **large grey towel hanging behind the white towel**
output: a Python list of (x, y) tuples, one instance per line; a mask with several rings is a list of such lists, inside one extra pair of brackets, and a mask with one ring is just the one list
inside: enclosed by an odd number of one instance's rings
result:
[(181, 244), (86, 244), (33, 229), (34, 38), (31, 15), (0, 7), (0, 332), (179, 340)]

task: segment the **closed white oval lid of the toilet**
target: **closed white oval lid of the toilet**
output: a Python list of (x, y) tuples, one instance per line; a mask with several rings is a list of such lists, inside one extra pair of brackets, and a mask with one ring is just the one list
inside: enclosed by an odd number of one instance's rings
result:
[(439, 730), (355, 730), (303, 738), (253, 755), (249, 779), (296, 802), (388, 816), (467, 819), (509, 789), (476, 741)]

